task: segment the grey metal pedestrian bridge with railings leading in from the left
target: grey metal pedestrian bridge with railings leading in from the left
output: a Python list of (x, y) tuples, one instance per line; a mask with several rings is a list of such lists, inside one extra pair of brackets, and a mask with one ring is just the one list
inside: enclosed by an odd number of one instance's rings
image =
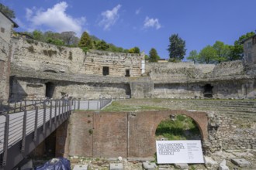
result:
[(68, 119), (71, 110), (100, 110), (110, 102), (111, 99), (24, 100), (6, 106), (0, 100), (0, 169), (19, 164)]

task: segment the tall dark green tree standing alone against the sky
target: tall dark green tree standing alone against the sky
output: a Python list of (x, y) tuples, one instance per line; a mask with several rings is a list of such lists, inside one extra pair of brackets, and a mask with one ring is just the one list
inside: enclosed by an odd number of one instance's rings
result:
[(180, 38), (178, 34), (173, 34), (169, 37), (170, 45), (168, 45), (168, 52), (171, 61), (180, 61), (185, 56), (185, 40)]

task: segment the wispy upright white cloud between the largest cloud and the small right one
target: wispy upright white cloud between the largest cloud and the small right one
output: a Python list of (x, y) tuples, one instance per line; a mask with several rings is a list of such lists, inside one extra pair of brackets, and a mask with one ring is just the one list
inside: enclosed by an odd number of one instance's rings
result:
[(119, 19), (119, 8), (121, 8), (121, 5), (116, 5), (112, 10), (102, 12), (102, 20), (99, 22), (99, 26), (103, 26), (105, 30), (113, 26)]

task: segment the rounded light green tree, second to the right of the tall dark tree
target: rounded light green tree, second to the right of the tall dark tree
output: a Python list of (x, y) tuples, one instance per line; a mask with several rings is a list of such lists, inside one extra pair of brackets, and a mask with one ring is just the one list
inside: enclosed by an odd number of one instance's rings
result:
[(213, 46), (206, 46), (199, 53), (199, 63), (216, 63), (218, 55)]

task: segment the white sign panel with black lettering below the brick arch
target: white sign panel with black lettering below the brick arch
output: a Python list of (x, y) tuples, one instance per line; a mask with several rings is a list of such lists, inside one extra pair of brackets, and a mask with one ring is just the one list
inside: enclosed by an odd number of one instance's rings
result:
[(201, 141), (156, 141), (157, 163), (204, 163)]

